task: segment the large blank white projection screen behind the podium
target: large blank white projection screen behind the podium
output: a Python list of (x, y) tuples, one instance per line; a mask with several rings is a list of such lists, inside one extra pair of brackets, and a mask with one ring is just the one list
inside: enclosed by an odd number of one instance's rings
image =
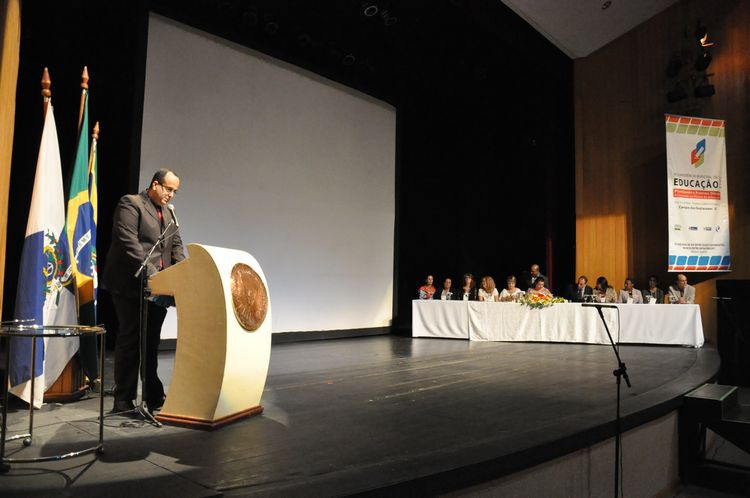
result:
[(392, 106), (151, 14), (142, 133), (141, 188), (173, 169), (183, 241), (258, 259), (274, 332), (390, 325)]

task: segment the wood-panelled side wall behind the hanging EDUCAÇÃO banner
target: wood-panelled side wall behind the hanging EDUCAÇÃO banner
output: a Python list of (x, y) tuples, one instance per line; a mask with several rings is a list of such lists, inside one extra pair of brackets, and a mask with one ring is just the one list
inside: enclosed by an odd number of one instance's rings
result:
[[(666, 75), (675, 51), (697, 50), (707, 28), (716, 94), (669, 104)], [(685, 69), (683, 69), (683, 72)], [(707, 341), (716, 339), (716, 278), (750, 278), (750, 1), (682, 0), (574, 65), (576, 133), (576, 271), (627, 275), (644, 286), (667, 266), (664, 113), (727, 121), (727, 175), (733, 271), (689, 274), (697, 287)], [(690, 89), (688, 88), (690, 92)], [(692, 92), (690, 92), (692, 94)]]

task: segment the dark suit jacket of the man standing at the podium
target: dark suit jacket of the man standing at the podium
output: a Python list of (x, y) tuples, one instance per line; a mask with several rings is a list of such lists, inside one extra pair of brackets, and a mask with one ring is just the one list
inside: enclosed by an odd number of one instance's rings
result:
[[(115, 209), (112, 223), (112, 244), (107, 253), (107, 266), (102, 276), (102, 288), (112, 294), (127, 297), (140, 295), (139, 280), (135, 272), (154, 245), (162, 231), (157, 207), (144, 190), (140, 194), (126, 195), (120, 199)], [(164, 226), (172, 220), (172, 213), (162, 209)], [(180, 231), (172, 225), (164, 242), (160, 244), (148, 261), (148, 276), (159, 270), (163, 258), (164, 268), (185, 259)]]

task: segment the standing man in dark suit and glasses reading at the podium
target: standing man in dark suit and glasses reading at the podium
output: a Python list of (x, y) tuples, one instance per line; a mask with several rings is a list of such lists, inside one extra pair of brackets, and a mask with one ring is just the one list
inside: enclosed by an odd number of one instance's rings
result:
[[(146, 190), (123, 196), (115, 210), (112, 244), (102, 277), (102, 288), (112, 295), (120, 323), (115, 344), (115, 403), (112, 409), (115, 413), (133, 410), (138, 387), (141, 287), (135, 273), (161, 232), (173, 221), (167, 206), (179, 187), (180, 179), (174, 172), (160, 169)], [(185, 251), (180, 232), (176, 224), (172, 224), (163, 242), (149, 258), (146, 275), (151, 276), (183, 259)], [(164, 386), (156, 368), (161, 326), (166, 314), (166, 308), (149, 301), (143, 399), (150, 410), (158, 410), (164, 404)]]

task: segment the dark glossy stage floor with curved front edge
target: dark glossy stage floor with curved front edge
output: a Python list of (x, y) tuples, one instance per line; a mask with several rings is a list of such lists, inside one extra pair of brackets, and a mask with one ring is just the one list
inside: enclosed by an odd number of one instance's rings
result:
[[(622, 346), (625, 429), (664, 415), (712, 378), (711, 348)], [(162, 353), (168, 383), (174, 355)], [(111, 362), (105, 384), (111, 386)], [(611, 437), (611, 347), (375, 336), (274, 345), (262, 415), (214, 432), (121, 426), (105, 452), (15, 464), (2, 496), (331, 496), (434, 493)], [(105, 400), (105, 410), (112, 398)], [(63, 453), (97, 434), (97, 400), (47, 405), (35, 441), (8, 456)], [(26, 424), (13, 411), (12, 429)], [(81, 441), (81, 442), (74, 442)]]

